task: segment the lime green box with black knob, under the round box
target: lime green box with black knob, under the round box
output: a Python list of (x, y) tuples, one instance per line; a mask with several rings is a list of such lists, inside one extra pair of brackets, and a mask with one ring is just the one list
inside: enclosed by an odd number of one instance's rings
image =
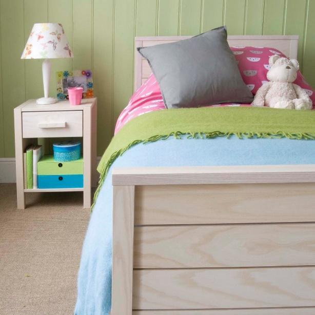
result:
[(37, 162), (38, 175), (83, 174), (83, 157), (71, 162), (56, 162), (53, 155), (44, 155)]

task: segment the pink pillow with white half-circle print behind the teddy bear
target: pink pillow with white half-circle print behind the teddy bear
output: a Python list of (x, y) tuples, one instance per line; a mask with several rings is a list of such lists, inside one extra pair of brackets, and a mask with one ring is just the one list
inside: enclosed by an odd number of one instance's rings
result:
[[(270, 47), (232, 46), (230, 49), (237, 60), (243, 81), (253, 94), (257, 92), (264, 82), (268, 81), (267, 71), (269, 70), (269, 57), (274, 54), (286, 57), (278, 49)], [(300, 71), (298, 71), (298, 77), (294, 83), (306, 91), (314, 106), (314, 90), (306, 83)]]

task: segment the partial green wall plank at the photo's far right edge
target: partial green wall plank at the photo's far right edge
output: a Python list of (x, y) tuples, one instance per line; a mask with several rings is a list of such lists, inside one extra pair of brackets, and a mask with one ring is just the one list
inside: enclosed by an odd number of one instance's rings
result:
[(307, 82), (315, 88), (315, 1), (308, 0), (303, 74)]

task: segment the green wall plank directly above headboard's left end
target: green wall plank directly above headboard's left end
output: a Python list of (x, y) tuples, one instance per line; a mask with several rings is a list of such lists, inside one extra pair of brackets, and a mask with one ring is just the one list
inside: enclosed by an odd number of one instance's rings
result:
[(156, 35), (157, 0), (136, 0), (136, 36)]

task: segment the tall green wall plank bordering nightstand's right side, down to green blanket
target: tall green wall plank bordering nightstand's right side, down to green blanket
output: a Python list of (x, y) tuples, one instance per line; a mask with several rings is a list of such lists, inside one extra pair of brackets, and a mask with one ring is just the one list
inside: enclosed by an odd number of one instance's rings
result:
[(114, 0), (94, 0), (93, 81), (97, 96), (97, 155), (102, 155), (113, 132)]

